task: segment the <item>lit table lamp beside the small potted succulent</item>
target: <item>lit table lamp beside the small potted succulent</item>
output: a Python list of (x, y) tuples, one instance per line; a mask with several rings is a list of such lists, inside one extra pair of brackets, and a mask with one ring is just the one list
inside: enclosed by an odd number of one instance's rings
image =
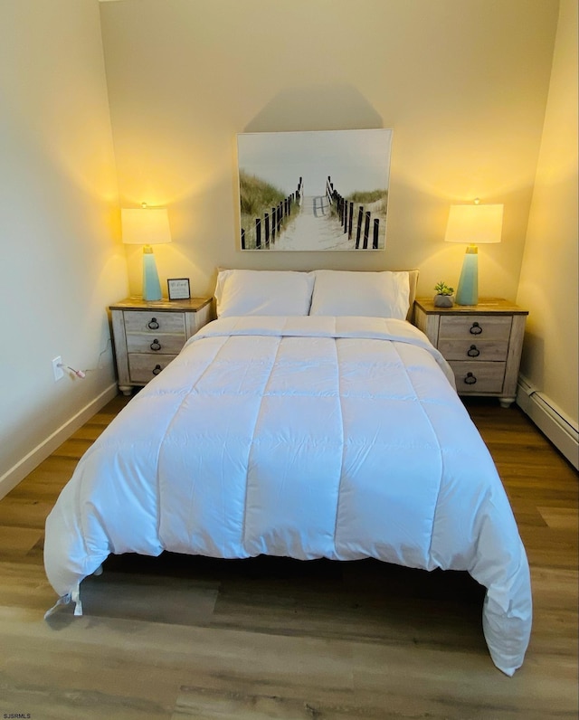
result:
[(485, 242), (500, 242), (503, 224), (502, 205), (451, 205), (446, 226), (446, 242), (468, 242), (464, 255), (459, 285), (456, 292), (458, 305), (476, 305), (479, 302), (479, 248)]

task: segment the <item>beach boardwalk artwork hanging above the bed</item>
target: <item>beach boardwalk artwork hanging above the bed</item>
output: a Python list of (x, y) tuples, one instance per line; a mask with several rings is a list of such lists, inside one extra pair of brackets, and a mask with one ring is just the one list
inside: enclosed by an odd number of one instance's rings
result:
[(391, 148), (391, 129), (239, 134), (242, 250), (384, 250)]

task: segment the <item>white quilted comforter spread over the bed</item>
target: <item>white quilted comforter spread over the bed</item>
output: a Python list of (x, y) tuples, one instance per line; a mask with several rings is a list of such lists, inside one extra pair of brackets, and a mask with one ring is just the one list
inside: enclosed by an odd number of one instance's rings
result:
[[(446, 374), (446, 376), (445, 376)], [(46, 523), (54, 590), (163, 550), (466, 570), (495, 664), (521, 665), (527, 556), (444, 359), (401, 320), (230, 317), (192, 337), (81, 459)]]

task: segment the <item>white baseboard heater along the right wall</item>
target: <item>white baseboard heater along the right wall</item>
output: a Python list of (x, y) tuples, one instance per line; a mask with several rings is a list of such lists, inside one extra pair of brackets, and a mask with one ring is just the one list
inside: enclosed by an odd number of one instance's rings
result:
[(579, 430), (576, 423), (545, 393), (536, 390), (524, 375), (518, 378), (517, 405), (574, 468), (579, 469)]

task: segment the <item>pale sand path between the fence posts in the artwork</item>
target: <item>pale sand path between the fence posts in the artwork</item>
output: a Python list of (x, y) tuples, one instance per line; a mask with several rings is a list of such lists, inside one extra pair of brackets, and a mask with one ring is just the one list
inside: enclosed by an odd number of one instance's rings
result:
[(271, 243), (270, 250), (353, 250), (326, 195), (304, 195), (299, 214)]

